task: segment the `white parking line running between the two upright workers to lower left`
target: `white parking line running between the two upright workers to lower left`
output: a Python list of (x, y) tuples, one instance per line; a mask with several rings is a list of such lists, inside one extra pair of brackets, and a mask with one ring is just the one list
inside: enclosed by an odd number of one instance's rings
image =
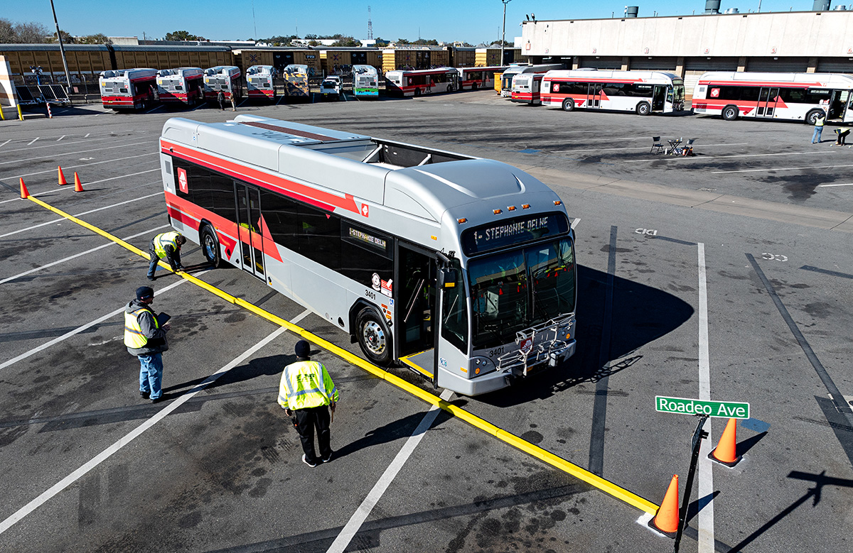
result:
[[(183, 282), (188, 282), (187, 280), (181, 280), (181, 282), (175, 283), (175, 285), (182, 284)], [(121, 308), (120, 311), (124, 311), (125, 308)], [(305, 315), (309, 314), (310, 311), (305, 309), (305, 312), (300, 314), (291, 322), (298, 323)], [(75, 481), (78, 481), (82, 476), (88, 473), (91, 469), (94, 469), (99, 464), (102, 464), (107, 458), (113, 455), (113, 453), (118, 452), (122, 447), (131, 443), (131, 441), (135, 440), (137, 437), (142, 435), (143, 432), (152, 428), (154, 424), (159, 423), (163, 420), (167, 415), (171, 412), (174, 412), (180, 406), (183, 406), (184, 403), (191, 400), (196, 394), (198, 394), (203, 389), (215, 382), (219, 377), (221, 377), (226, 372), (229, 372), (235, 366), (240, 365), (243, 361), (247, 360), (253, 354), (255, 354), (259, 349), (264, 348), (268, 343), (275, 340), (277, 337), (281, 336), (286, 331), (286, 329), (282, 326), (276, 331), (273, 331), (269, 336), (265, 337), (260, 342), (253, 345), (251, 348), (247, 349), (240, 356), (238, 356), (235, 360), (231, 361), (228, 365), (223, 366), (217, 372), (214, 372), (211, 376), (207, 377), (204, 382), (200, 383), (194, 389), (191, 389), (184, 395), (181, 395), (177, 398), (177, 400), (172, 401), (168, 406), (163, 407), (154, 417), (149, 418), (144, 423), (140, 424), (136, 427), (136, 429), (131, 430), (130, 433), (119, 438), (119, 441), (113, 443), (112, 446), (107, 447), (107, 449), (98, 453), (94, 458), (92, 458), (87, 463), (83, 464), (79, 469), (75, 470), (70, 475), (67, 475), (61, 481), (55, 483), (54, 486), (50, 487), (47, 491), (38, 496), (38, 498), (33, 499), (30, 503), (24, 505), (19, 510), (15, 511), (12, 516), (9, 516), (5, 521), (0, 522), (0, 534), (9, 530), (10, 527), (15, 525), (15, 522), (20, 521), (25, 516), (32, 513), (32, 511), (37, 510), (43, 504), (47, 503), (51, 498), (54, 498), (58, 493), (67, 487), (71, 486)]]

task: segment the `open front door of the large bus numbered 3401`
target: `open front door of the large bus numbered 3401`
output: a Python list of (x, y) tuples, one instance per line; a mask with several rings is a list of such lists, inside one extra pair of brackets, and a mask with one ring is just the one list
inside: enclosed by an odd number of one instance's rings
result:
[(435, 329), (435, 257), (421, 248), (397, 243), (394, 285), (399, 359), (432, 379)]

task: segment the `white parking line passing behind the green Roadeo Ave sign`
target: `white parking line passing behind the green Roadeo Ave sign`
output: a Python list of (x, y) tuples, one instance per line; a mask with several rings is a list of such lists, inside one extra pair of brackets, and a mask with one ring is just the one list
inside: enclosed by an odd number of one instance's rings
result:
[[(708, 354), (708, 284), (705, 277), (705, 244), (699, 243), (699, 400), (711, 400), (711, 362)], [(711, 419), (705, 421), (708, 437), (699, 449), (699, 501), (710, 497), (699, 510), (699, 553), (714, 552), (714, 470), (711, 452)]]

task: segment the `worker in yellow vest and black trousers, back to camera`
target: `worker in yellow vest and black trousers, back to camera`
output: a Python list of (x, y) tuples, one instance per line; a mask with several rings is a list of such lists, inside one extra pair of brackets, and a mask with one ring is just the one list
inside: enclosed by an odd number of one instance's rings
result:
[[(310, 344), (299, 340), (295, 348), (296, 362), (284, 367), (278, 389), (278, 404), (288, 417), (302, 441), (302, 462), (310, 467), (332, 460), (329, 424), (338, 403), (338, 389), (322, 363), (310, 359)], [(331, 408), (332, 417), (328, 410)], [(314, 429), (320, 443), (320, 457), (314, 450)]]

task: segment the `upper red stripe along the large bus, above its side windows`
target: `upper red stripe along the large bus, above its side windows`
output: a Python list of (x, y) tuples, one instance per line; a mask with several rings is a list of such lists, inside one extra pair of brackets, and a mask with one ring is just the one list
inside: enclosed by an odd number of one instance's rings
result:
[(325, 193), (314, 188), (288, 181), (281, 176), (270, 175), (259, 170), (235, 164), (227, 159), (217, 158), (207, 153), (183, 147), (169, 141), (160, 139), (160, 151), (177, 158), (186, 159), (205, 166), (208, 169), (223, 172), (226, 175), (251, 182), (259, 187), (282, 193), (290, 198), (298, 199), (306, 204), (314, 205), (322, 210), (334, 211), (336, 208), (361, 213), (356, 205), (356, 200), (351, 194), (345, 194), (343, 198), (332, 193)]

